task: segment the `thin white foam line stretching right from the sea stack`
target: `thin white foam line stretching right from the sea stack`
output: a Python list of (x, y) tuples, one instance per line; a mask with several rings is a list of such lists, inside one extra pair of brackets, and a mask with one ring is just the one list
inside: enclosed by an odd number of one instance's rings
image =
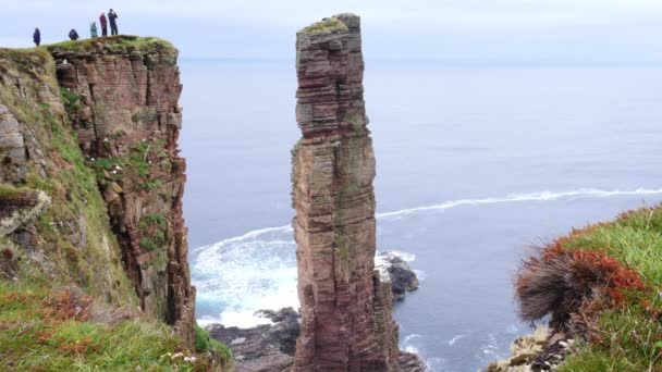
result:
[(579, 188), (568, 191), (539, 191), (528, 194), (510, 194), (504, 197), (491, 197), (482, 199), (458, 199), (444, 201), (438, 204), (403, 209), (394, 212), (377, 213), (378, 219), (403, 216), (412, 213), (434, 211), (434, 210), (446, 210), (463, 206), (481, 206), (481, 204), (500, 204), (508, 202), (522, 202), (522, 201), (554, 201), (564, 198), (609, 198), (615, 196), (645, 196), (645, 195), (660, 195), (662, 188), (637, 188), (634, 190), (604, 190), (599, 188)]

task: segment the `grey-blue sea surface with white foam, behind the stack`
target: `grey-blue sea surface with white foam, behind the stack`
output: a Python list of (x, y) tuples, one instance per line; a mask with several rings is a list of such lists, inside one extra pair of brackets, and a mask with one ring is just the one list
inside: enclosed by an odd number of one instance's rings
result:
[[(662, 201), (662, 66), (366, 64), (378, 250), (420, 275), (395, 318), (432, 371), (476, 371), (530, 331), (512, 281), (532, 247)], [(298, 306), (293, 62), (181, 69), (198, 321), (265, 322)]]

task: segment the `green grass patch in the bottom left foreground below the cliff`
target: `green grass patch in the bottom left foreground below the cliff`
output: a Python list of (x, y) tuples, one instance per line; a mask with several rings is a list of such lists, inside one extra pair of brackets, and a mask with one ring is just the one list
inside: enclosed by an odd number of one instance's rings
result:
[[(172, 330), (146, 319), (87, 320), (90, 300), (24, 283), (0, 282), (2, 371), (205, 371)], [(181, 352), (181, 356), (177, 356)]]

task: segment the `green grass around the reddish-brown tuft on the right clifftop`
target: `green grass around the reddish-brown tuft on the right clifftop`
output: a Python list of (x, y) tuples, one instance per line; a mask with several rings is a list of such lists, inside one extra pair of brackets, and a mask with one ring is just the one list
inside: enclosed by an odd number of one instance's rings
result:
[(662, 371), (662, 206), (630, 211), (615, 221), (574, 230), (557, 239), (569, 252), (600, 251), (633, 270), (646, 285), (592, 313), (586, 342), (559, 371)]

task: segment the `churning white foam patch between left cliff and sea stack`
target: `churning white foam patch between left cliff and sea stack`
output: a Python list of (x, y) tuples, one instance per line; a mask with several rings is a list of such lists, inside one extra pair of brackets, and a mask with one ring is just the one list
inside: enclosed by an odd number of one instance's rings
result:
[(257, 310), (297, 308), (291, 232), (290, 226), (260, 228), (192, 255), (200, 320), (249, 327), (270, 323), (255, 315)]

